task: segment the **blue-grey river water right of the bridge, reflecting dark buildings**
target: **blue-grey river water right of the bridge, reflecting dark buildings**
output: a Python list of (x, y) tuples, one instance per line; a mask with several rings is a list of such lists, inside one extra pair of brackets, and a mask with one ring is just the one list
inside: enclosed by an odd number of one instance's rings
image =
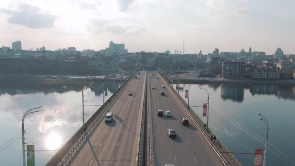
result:
[[(207, 102), (207, 93), (198, 86), (198, 84), (190, 85), (191, 106), (202, 106)], [(295, 86), (256, 84), (200, 86), (206, 88), (210, 95), (209, 127), (230, 152), (254, 153), (256, 148), (264, 147), (266, 125), (259, 119), (257, 115), (259, 112), (269, 122), (266, 164), (295, 166)], [(188, 88), (188, 84), (180, 84), (182, 98), (185, 98), (185, 89)], [(188, 98), (185, 100), (188, 102)], [(207, 123), (207, 117), (202, 117), (202, 107), (191, 108)], [(254, 155), (234, 154), (234, 156), (243, 166), (254, 165)]]

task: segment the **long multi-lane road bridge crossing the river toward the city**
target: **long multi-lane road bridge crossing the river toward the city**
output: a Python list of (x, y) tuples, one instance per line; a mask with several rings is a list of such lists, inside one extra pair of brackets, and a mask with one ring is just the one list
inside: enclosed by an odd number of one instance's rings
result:
[[(129, 78), (46, 166), (240, 166), (230, 153), (222, 153), (228, 151), (221, 143), (210, 141), (211, 133), (185, 104), (160, 74), (141, 72), (137, 79)], [(169, 110), (171, 117), (157, 116), (159, 109)], [(114, 115), (111, 123), (104, 123), (107, 112)], [(188, 118), (188, 126), (180, 123), (182, 117)], [(169, 138), (167, 129), (175, 129), (177, 136)]]

